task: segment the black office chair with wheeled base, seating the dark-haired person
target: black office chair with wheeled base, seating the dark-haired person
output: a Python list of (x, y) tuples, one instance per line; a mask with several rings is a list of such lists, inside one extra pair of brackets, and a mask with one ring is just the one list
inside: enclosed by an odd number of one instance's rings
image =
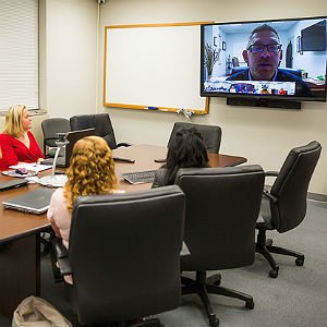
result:
[(175, 183), (186, 196), (184, 242), (191, 254), (181, 257), (182, 271), (195, 271), (195, 280), (182, 276), (182, 294), (197, 293), (210, 326), (218, 326), (208, 293), (245, 301), (251, 295), (220, 287), (208, 270), (252, 265), (265, 174), (259, 166), (180, 169)]

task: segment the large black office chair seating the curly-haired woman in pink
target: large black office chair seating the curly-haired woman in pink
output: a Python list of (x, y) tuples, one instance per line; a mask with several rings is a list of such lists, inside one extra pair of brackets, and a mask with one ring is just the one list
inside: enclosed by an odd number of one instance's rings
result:
[(177, 185), (77, 198), (69, 256), (61, 254), (59, 264), (73, 276), (80, 324), (132, 320), (180, 305), (184, 207)]

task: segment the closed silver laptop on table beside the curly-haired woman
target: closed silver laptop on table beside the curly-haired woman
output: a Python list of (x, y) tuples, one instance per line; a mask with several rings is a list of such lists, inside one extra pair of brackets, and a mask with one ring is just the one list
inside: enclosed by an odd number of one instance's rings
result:
[(55, 189), (38, 187), (35, 191), (2, 202), (5, 209), (40, 215), (48, 210)]

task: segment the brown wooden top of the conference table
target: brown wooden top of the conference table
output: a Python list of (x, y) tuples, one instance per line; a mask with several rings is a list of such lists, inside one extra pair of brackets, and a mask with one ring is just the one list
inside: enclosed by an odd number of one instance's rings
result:
[[(119, 187), (126, 192), (138, 190), (148, 190), (150, 183), (132, 185), (124, 181), (119, 174), (122, 172), (142, 171), (158, 169), (162, 164), (155, 162), (155, 159), (165, 158), (167, 148), (165, 146), (153, 145), (133, 145), (130, 147), (120, 147), (113, 150), (114, 157), (135, 159), (134, 164), (116, 161), (116, 172), (119, 178)], [(246, 162), (243, 157), (235, 157), (220, 154), (208, 154), (209, 165), (211, 167), (237, 166)], [(51, 170), (39, 173), (39, 177), (50, 174)], [(9, 181), (12, 178), (0, 175), (0, 182)], [(16, 210), (4, 209), (2, 201), (10, 197), (22, 195), (39, 187), (38, 184), (28, 184), (19, 189), (0, 192), (0, 244), (10, 240), (21, 238), (37, 231), (41, 231), (49, 227), (49, 222), (44, 215), (32, 215)]]

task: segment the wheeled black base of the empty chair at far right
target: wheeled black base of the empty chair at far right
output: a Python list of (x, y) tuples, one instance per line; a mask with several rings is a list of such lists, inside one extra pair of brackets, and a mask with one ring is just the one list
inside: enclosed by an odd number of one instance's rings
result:
[(271, 269), (269, 270), (269, 276), (271, 278), (278, 277), (279, 266), (277, 265), (276, 261), (274, 259), (271, 253), (288, 255), (295, 257), (295, 264), (296, 266), (303, 266), (304, 264), (304, 254), (300, 252), (295, 252), (292, 250), (274, 246), (272, 240), (267, 239), (266, 237), (266, 230), (258, 230), (257, 234), (257, 242), (255, 244), (255, 251), (259, 254), (262, 254), (266, 261), (269, 263)]

